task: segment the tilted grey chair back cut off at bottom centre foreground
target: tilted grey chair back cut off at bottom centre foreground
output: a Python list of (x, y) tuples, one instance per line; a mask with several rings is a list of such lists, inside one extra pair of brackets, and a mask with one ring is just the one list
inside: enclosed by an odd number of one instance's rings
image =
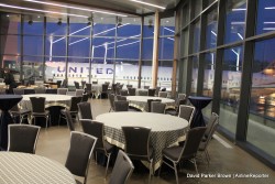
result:
[(119, 151), (109, 184), (124, 184), (131, 177), (134, 165), (130, 158), (123, 152)]

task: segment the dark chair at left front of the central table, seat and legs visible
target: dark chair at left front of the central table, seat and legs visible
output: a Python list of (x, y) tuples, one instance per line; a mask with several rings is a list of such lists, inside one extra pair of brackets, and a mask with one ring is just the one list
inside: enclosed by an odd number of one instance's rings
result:
[[(101, 152), (107, 156), (107, 165), (105, 173), (105, 176), (107, 176), (109, 162), (114, 145), (110, 144), (105, 140), (105, 125), (98, 121), (94, 121), (91, 119), (80, 119), (80, 123), (85, 133), (98, 138), (95, 152)], [(97, 161), (97, 154), (96, 154), (96, 161)]]

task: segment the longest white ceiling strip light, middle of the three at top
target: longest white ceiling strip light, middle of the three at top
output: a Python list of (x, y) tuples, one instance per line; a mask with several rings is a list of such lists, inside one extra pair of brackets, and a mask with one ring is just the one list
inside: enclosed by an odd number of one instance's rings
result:
[(103, 14), (112, 14), (112, 15), (118, 15), (118, 17), (128, 17), (128, 15), (125, 15), (125, 14), (113, 13), (113, 12), (109, 12), (109, 11), (85, 9), (85, 8), (79, 8), (79, 7), (65, 6), (65, 4), (61, 4), (61, 3), (44, 2), (44, 1), (36, 1), (36, 0), (24, 0), (24, 1), (34, 2), (34, 3), (42, 3), (42, 4), (47, 4), (47, 6), (62, 7), (62, 8), (67, 8), (67, 9), (75, 9), (75, 10), (88, 11), (88, 12), (97, 12), (97, 13), (103, 13)]

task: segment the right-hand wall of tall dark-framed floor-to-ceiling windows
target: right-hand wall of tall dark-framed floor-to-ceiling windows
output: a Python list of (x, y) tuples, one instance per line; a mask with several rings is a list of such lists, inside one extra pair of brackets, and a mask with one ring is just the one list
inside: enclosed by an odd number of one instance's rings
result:
[(274, 7), (268, 0), (186, 0), (178, 8), (180, 90), (213, 97), (204, 115), (218, 112), (220, 132), (273, 167)]

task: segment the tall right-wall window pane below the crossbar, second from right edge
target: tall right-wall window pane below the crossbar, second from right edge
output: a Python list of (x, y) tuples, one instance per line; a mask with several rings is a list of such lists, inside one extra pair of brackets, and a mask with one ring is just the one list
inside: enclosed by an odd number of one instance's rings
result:
[[(243, 47), (224, 50), (221, 78), (220, 125), (235, 133), (242, 76)], [(230, 121), (228, 121), (230, 119)]]

